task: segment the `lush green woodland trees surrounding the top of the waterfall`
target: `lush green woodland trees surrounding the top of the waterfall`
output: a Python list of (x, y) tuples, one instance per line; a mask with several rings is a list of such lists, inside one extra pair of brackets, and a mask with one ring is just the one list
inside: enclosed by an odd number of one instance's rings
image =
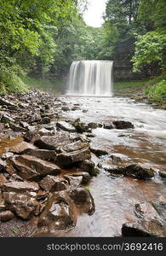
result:
[[(108, 0), (100, 28), (84, 23), (87, 2), (0, 1), (0, 93), (26, 91), (27, 75), (59, 80), (74, 60), (114, 60), (145, 80), (164, 73), (165, 0)], [(146, 94), (164, 98), (164, 84), (162, 76)]]

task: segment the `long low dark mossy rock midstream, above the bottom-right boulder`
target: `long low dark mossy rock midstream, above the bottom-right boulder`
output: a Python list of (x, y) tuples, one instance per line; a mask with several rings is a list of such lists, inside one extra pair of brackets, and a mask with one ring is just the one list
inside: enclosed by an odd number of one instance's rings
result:
[(110, 168), (106, 171), (115, 173), (115, 174), (123, 174), (127, 177), (137, 177), (140, 179), (152, 178), (154, 177), (154, 171), (152, 168), (146, 165), (133, 164), (129, 166), (122, 166), (117, 168)]

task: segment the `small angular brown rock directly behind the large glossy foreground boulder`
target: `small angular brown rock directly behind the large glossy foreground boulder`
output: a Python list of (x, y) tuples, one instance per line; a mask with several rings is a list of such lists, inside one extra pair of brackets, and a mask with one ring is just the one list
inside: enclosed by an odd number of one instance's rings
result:
[(39, 183), (40, 187), (45, 191), (61, 191), (67, 189), (66, 179), (63, 177), (46, 176)]

